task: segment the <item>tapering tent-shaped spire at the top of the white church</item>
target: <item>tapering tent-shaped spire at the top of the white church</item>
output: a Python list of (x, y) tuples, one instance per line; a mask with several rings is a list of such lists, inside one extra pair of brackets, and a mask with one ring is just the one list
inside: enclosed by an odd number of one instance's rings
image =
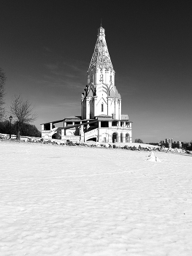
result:
[(104, 28), (102, 27), (98, 29), (96, 46), (89, 65), (89, 69), (92, 70), (93, 68), (113, 70), (110, 53), (107, 49), (107, 43), (105, 40)]

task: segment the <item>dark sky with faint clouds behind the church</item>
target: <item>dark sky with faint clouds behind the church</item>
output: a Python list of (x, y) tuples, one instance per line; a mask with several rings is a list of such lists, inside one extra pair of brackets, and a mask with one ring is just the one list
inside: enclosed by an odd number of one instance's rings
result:
[(191, 1), (1, 0), (0, 67), (39, 124), (80, 116), (96, 44), (106, 32), (122, 113), (133, 138), (192, 140)]

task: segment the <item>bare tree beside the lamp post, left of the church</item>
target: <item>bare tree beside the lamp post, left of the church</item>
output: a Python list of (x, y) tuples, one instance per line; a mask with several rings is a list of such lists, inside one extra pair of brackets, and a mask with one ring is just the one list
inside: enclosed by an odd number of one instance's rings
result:
[(34, 108), (28, 100), (24, 101), (20, 95), (15, 96), (12, 100), (10, 106), (10, 112), (12, 116), (14, 116), (17, 121), (17, 139), (20, 140), (20, 129), (23, 127), (23, 124), (30, 124), (36, 118), (36, 114), (33, 113)]

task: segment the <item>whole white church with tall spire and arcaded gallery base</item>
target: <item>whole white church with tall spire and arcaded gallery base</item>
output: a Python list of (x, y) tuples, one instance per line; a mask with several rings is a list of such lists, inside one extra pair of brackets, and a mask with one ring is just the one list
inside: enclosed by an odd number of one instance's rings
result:
[[(85, 142), (131, 143), (132, 122), (121, 113), (121, 97), (115, 86), (115, 70), (104, 34), (98, 29), (96, 46), (81, 96), (81, 116), (42, 124), (42, 138)], [(56, 127), (56, 124), (62, 127)]]

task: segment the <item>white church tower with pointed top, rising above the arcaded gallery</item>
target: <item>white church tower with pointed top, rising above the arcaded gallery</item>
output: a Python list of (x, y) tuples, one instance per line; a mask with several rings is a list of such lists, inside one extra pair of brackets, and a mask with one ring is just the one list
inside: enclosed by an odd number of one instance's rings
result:
[(81, 99), (82, 119), (111, 116), (114, 120), (121, 120), (121, 97), (115, 87), (115, 70), (102, 27), (98, 29), (87, 79), (88, 83)]

